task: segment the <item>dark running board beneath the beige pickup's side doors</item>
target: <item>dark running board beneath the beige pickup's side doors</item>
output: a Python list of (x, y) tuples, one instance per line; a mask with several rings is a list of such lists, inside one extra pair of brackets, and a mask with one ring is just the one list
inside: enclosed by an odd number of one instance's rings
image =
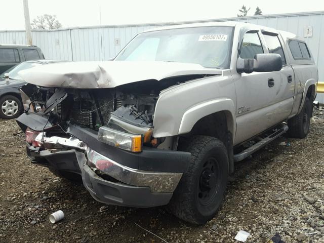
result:
[(268, 137), (262, 139), (261, 141), (253, 144), (251, 147), (247, 148), (246, 150), (243, 150), (240, 153), (234, 154), (234, 162), (243, 160), (247, 157), (249, 157), (252, 153), (256, 152), (263, 146), (267, 145), (277, 137), (279, 137), (281, 134), (284, 134), (288, 131), (288, 126), (286, 124), (280, 124), (280, 127), (277, 128), (277, 130), (270, 134)]

